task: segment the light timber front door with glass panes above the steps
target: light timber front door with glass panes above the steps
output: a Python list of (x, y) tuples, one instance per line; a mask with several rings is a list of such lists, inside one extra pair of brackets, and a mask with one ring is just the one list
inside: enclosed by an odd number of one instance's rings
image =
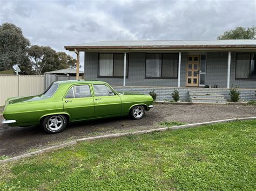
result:
[(186, 86), (198, 86), (199, 55), (188, 55)]

